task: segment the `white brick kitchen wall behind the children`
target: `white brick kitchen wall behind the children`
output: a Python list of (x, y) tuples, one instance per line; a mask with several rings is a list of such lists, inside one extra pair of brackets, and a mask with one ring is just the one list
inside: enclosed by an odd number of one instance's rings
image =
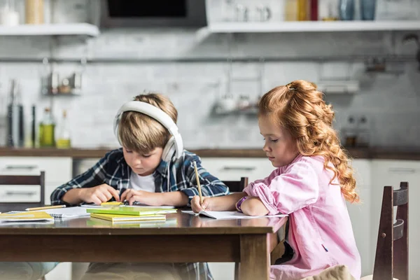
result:
[[(113, 29), (102, 30), (87, 44), (72, 38), (58, 38), (57, 57), (80, 58), (211, 58), (211, 57), (328, 57), (353, 55), (412, 55), (414, 42), (402, 44), (405, 32), (343, 32), (332, 34), (237, 34), (232, 45), (228, 36), (208, 35), (195, 29)], [(417, 33), (419, 34), (419, 33)], [(0, 62), (0, 144), (5, 143), (8, 81), (19, 81), (25, 113), (37, 106), (37, 118), (50, 97), (41, 96), (42, 57), (48, 55), (48, 37), (0, 37), (0, 57), (37, 57), (39, 63)], [(393, 43), (394, 42), (394, 43)], [(399, 65), (400, 75), (366, 74), (363, 62), (270, 62), (262, 66), (262, 89), (258, 80), (260, 64), (235, 62), (232, 76), (248, 78), (232, 83), (235, 97), (258, 99), (276, 85), (295, 79), (318, 83), (329, 78), (360, 80), (356, 94), (329, 95), (342, 130), (349, 116), (366, 116), (371, 146), (420, 148), (420, 72), (416, 62)], [(56, 65), (70, 75), (77, 64)], [(227, 90), (228, 62), (127, 62), (87, 64), (80, 97), (54, 97), (52, 109), (57, 120), (66, 109), (73, 147), (117, 146), (113, 117), (123, 102), (142, 92), (167, 94), (179, 110), (179, 127), (186, 148), (260, 148), (255, 115), (214, 116), (212, 106)]]

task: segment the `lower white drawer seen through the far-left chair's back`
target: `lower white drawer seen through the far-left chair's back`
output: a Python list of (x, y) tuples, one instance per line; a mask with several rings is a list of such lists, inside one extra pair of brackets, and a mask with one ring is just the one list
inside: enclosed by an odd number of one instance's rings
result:
[(0, 186), (0, 202), (39, 202), (40, 186)]

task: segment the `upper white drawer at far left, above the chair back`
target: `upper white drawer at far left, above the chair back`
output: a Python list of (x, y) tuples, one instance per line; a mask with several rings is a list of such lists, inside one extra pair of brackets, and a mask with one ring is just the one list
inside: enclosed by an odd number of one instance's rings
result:
[(1, 157), (2, 175), (38, 175), (45, 172), (45, 182), (69, 181), (72, 176), (71, 158)]

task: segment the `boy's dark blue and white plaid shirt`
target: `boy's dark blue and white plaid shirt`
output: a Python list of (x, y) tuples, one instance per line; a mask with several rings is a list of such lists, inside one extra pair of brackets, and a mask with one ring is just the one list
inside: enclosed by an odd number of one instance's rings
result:
[[(164, 161), (160, 162), (153, 173), (156, 193), (179, 190), (188, 196), (188, 206), (190, 206), (191, 199), (194, 195), (198, 195), (194, 161), (197, 163), (202, 195), (216, 197), (229, 194), (229, 188), (201, 166), (200, 157), (186, 150), (183, 151), (181, 158), (169, 164)], [(131, 168), (124, 160), (123, 149), (110, 151), (94, 167), (56, 188), (51, 194), (51, 204), (65, 204), (62, 197), (73, 188), (92, 188), (103, 183), (119, 190), (120, 195), (122, 195), (130, 186), (130, 174)], [(182, 279), (213, 279), (205, 262), (174, 265), (179, 267), (181, 274), (183, 274), (181, 275)]]

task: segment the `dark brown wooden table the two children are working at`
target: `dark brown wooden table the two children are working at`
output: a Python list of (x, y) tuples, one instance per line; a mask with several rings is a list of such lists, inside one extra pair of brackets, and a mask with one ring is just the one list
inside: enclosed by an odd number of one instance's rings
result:
[[(240, 262), (239, 279), (268, 279), (269, 253), (287, 218), (214, 220), (178, 212), (165, 223), (91, 218), (0, 226), (0, 261)], [(144, 253), (133, 253), (144, 252)]]

